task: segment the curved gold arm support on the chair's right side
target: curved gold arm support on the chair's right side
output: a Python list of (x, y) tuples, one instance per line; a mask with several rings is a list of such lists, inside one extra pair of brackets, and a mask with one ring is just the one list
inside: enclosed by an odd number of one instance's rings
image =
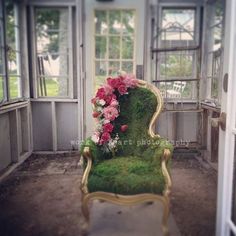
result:
[(167, 169), (167, 163), (168, 163), (170, 157), (171, 157), (170, 150), (165, 148), (164, 152), (163, 152), (163, 156), (162, 156), (162, 161), (161, 161), (161, 170), (164, 175), (165, 182), (166, 182), (165, 190), (163, 191), (163, 195), (166, 197), (168, 197), (170, 195), (171, 185), (172, 185), (170, 173)]

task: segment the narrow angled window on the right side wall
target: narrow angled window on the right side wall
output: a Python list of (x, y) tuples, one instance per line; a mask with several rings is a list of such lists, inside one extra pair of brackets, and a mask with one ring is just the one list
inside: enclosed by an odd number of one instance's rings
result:
[(216, 105), (220, 104), (220, 81), (222, 70), (222, 37), (223, 37), (223, 14), (224, 4), (222, 0), (217, 0), (214, 4), (207, 6), (210, 15), (208, 22), (208, 61), (207, 79), (208, 94), (207, 98), (214, 100)]

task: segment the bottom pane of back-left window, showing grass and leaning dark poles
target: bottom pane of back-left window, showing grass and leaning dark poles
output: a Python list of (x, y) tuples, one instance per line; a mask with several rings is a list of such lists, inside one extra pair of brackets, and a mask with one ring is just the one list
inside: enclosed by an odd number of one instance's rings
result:
[(68, 96), (67, 77), (46, 77), (39, 76), (38, 90), (39, 96), (66, 97)]

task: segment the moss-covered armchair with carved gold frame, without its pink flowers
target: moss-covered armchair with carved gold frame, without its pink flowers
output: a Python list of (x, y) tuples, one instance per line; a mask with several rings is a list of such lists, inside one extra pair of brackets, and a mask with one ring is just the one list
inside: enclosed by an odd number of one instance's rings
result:
[(84, 159), (82, 212), (88, 224), (89, 200), (120, 205), (161, 201), (164, 206), (162, 230), (168, 235), (169, 160), (173, 147), (154, 133), (163, 105), (162, 97), (156, 87), (139, 80), (138, 87), (119, 102), (120, 115), (116, 124), (128, 124), (128, 129), (125, 133), (117, 130), (121, 145), (115, 157), (104, 154), (91, 138), (81, 146)]

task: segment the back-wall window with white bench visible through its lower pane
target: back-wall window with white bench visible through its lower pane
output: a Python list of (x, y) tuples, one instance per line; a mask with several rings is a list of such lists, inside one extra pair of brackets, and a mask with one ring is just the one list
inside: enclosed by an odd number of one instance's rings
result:
[[(164, 98), (197, 98), (196, 10), (162, 8), (152, 48), (153, 82)], [(154, 43), (153, 41), (153, 43)]]

